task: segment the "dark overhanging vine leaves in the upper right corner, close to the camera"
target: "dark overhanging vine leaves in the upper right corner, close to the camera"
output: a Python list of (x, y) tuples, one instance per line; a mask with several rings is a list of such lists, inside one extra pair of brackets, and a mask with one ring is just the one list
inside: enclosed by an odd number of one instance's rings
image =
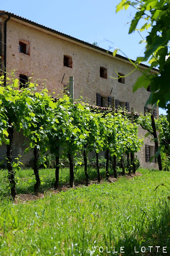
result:
[[(136, 14), (131, 22), (129, 34), (138, 30), (142, 32), (149, 29), (148, 36), (144, 42), (145, 52), (143, 57), (138, 57), (136, 62), (131, 63), (142, 73), (134, 84), (133, 90), (140, 87), (147, 88), (150, 85), (151, 93), (147, 104), (158, 104), (161, 108), (167, 108), (170, 120), (170, 1), (169, 0), (140, 0), (131, 2), (122, 0), (117, 5), (117, 12), (127, 10), (129, 6), (136, 8)], [(140, 20), (145, 24), (137, 28)], [(140, 42), (140, 43), (141, 43)], [(148, 62), (150, 65), (146, 70), (141, 70), (139, 64)], [(152, 68), (158, 68), (157, 72)], [(170, 128), (170, 126), (169, 126)]]

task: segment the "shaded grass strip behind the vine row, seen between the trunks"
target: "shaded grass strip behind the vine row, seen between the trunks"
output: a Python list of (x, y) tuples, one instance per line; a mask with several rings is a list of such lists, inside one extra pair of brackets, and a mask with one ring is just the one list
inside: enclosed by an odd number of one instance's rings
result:
[[(54, 187), (55, 183), (55, 169), (40, 169), (40, 192), (44, 192)], [(97, 179), (97, 170), (95, 168), (89, 167), (89, 180)], [(101, 177), (105, 178), (105, 168), (100, 169)], [(7, 196), (10, 195), (10, 188), (8, 187), (8, 170), (0, 170), (0, 195)], [(18, 194), (30, 194), (34, 193), (34, 184), (36, 182), (35, 176), (33, 175), (34, 171), (30, 169), (21, 169), (16, 171), (16, 189)], [(113, 174), (113, 171), (110, 170), (110, 174)], [(75, 168), (75, 184), (76, 183), (85, 183), (85, 172), (84, 168), (77, 167)], [(62, 168), (59, 170), (59, 186), (69, 184), (69, 168)]]

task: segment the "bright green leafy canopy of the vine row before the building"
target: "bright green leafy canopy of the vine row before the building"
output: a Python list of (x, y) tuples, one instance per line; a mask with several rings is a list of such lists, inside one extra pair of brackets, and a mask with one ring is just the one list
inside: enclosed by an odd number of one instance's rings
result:
[[(81, 150), (85, 150), (86, 154), (89, 151), (99, 153), (110, 150), (112, 155), (120, 158), (126, 152), (134, 153), (140, 149), (142, 140), (138, 139), (138, 126), (132, 124), (124, 112), (91, 111), (84, 102), (72, 102), (65, 94), (54, 99), (45, 88), (37, 92), (37, 85), (30, 82), (26, 88), (18, 90), (19, 81), (14, 78), (14, 74), (13, 79), (7, 78), (6, 87), (2, 80), (3, 77), (0, 80), (0, 143), (10, 144), (8, 163), (13, 181), (13, 137), (9, 136), (9, 129), (12, 134), (14, 128), (16, 132), (24, 134), (24, 144), (28, 145), (26, 153), (34, 149), (35, 192), (38, 192), (41, 184), (39, 167), (41, 164), (46, 167), (44, 154), (48, 149), (55, 155), (56, 177), (59, 175), (60, 154), (61, 157), (69, 158), (70, 154), (81, 154)], [(73, 159), (71, 162), (73, 165)]]

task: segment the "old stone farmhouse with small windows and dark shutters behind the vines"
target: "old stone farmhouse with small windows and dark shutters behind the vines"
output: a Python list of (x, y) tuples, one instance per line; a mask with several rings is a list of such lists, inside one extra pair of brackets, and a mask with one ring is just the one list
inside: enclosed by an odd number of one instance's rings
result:
[[(1, 72), (16, 70), (16, 78), (24, 84), (28, 77), (34, 74), (42, 88), (43, 80), (50, 93), (59, 94), (69, 86), (69, 77), (74, 77), (74, 98), (83, 96), (91, 105), (108, 108), (115, 99), (115, 107), (126, 107), (128, 111), (134, 108), (137, 113), (152, 111), (152, 106), (145, 107), (150, 94), (150, 88), (138, 89), (132, 92), (132, 87), (140, 76), (138, 70), (125, 78), (134, 67), (129, 60), (119, 54), (113, 57), (112, 52), (81, 41), (72, 36), (47, 28), (10, 12), (0, 11), (0, 64)], [(147, 66), (140, 64), (140, 68)], [(156, 69), (152, 70), (157, 72)], [(113, 98), (114, 97), (114, 98)], [(158, 116), (158, 108), (153, 110)], [(139, 128), (139, 136), (146, 132)], [(24, 147), (22, 134), (14, 138), (17, 154), (23, 156)], [(4, 146), (0, 149), (0, 158), (6, 152)], [(156, 161), (149, 163), (149, 156), (154, 155), (154, 143), (150, 138), (144, 138), (144, 145), (138, 158), (142, 167), (157, 168)], [(29, 164), (32, 154), (25, 155), (24, 164)]]

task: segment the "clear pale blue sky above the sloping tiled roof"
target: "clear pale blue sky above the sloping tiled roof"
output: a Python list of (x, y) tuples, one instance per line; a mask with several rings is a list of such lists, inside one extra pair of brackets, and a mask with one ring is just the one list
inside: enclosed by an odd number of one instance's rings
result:
[(142, 56), (144, 44), (139, 44), (142, 39), (137, 32), (128, 34), (134, 8), (116, 14), (119, 2), (121, 0), (7, 0), (1, 2), (0, 9), (83, 41), (95, 41), (107, 50), (119, 48), (134, 60)]

